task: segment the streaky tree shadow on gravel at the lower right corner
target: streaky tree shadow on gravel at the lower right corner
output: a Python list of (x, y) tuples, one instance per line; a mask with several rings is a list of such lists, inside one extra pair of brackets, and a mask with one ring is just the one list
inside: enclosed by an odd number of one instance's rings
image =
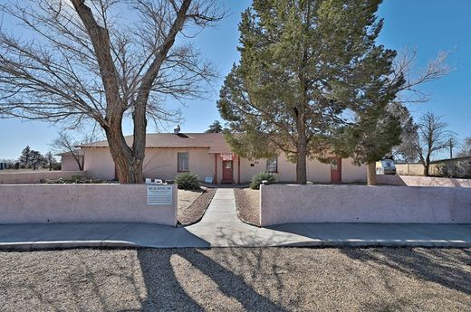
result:
[(471, 294), (471, 251), (459, 250), (451, 255), (447, 249), (423, 248), (344, 248), (341, 252), (353, 260), (372, 262), (417, 279), (438, 283), (466, 295)]

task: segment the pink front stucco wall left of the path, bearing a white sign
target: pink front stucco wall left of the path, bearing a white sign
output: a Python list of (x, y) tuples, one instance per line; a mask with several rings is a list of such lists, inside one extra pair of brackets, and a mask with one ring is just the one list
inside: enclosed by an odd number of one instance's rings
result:
[(177, 224), (172, 205), (148, 205), (146, 184), (0, 185), (0, 223), (146, 222)]

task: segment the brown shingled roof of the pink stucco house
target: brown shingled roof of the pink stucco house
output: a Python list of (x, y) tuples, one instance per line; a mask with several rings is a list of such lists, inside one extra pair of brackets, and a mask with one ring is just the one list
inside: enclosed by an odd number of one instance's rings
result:
[[(126, 143), (131, 146), (133, 136), (124, 137)], [(80, 147), (109, 147), (108, 141), (98, 141), (83, 144)], [(231, 148), (226, 143), (222, 133), (148, 133), (146, 135), (146, 147), (207, 147), (209, 153), (231, 153)]]

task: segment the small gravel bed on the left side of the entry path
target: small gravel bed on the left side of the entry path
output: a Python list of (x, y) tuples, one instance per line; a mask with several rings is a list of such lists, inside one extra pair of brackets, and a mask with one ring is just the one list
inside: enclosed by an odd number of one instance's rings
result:
[(199, 191), (178, 190), (178, 222), (190, 225), (201, 220), (216, 189), (202, 187)]

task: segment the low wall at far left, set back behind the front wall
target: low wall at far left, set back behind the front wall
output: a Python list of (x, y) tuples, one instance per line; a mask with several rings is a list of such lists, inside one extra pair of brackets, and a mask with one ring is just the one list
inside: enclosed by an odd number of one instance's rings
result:
[(36, 171), (36, 172), (13, 172), (1, 173), (0, 184), (39, 184), (41, 179), (53, 180), (59, 178), (70, 178), (72, 175), (86, 175), (84, 171)]

